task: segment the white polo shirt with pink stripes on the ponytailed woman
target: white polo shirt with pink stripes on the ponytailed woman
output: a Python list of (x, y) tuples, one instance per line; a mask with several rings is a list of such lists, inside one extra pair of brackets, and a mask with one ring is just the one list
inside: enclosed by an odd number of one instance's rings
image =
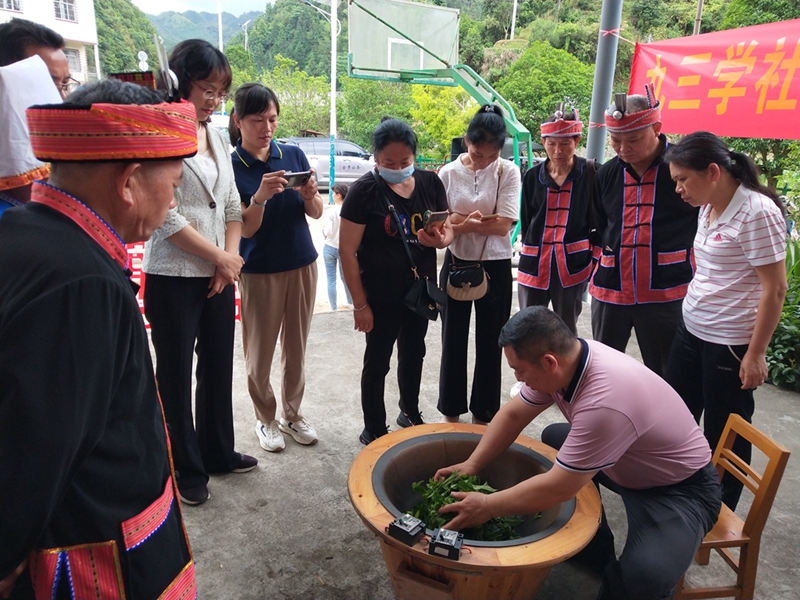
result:
[(741, 185), (709, 225), (710, 212), (711, 205), (700, 210), (683, 319), (706, 342), (749, 344), (762, 291), (755, 267), (785, 258), (786, 222), (770, 198)]

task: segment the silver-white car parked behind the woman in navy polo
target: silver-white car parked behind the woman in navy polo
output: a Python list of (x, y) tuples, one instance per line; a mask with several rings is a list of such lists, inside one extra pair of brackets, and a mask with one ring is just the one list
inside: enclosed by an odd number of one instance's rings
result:
[[(287, 144), (300, 146), (308, 158), (308, 164), (314, 169), (317, 185), (320, 189), (330, 187), (330, 151), (331, 142), (329, 139), (321, 137), (292, 137), (281, 140)], [(364, 173), (371, 171), (375, 167), (372, 155), (358, 144), (347, 140), (335, 140), (334, 148), (336, 158), (334, 165), (335, 183), (353, 183)]]

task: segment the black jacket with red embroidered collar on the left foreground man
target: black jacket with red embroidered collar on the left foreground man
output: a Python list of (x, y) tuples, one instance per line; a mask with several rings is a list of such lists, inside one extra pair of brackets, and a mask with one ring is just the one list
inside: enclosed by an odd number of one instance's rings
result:
[(125, 246), (76, 202), (37, 183), (0, 219), (0, 579), (27, 558), (37, 600), (195, 598)]

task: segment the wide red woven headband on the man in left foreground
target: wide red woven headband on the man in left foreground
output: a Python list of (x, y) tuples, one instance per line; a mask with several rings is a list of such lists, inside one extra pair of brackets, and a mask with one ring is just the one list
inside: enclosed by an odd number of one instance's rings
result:
[(197, 114), (186, 101), (34, 106), (31, 147), (43, 161), (180, 159), (197, 153)]

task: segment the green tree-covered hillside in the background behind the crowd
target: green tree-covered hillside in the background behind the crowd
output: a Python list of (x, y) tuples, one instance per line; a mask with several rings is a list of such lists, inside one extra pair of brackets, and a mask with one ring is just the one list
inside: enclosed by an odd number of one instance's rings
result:
[[(519, 0), (514, 40), (509, 39), (512, 0), (426, 2), (461, 10), (461, 61), (499, 90), (531, 131), (536, 132), (552, 105), (565, 98), (588, 121), (602, 0)], [(103, 69), (135, 69), (135, 51), (151, 52), (152, 26), (130, 0), (96, 0), (96, 5)], [(461, 90), (348, 78), (345, 6), (341, 3), (339, 12), (339, 135), (369, 146), (369, 133), (377, 121), (393, 114), (414, 123), (424, 154), (447, 154), (451, 133), (463, 128), (475, 110), (474, 103)], [(632, 42), (690, 35), (696, 8), (697, 0), (626, 1), (620, 33), (625, 39), (619, 43), (615, 89), (627, 88)], [(266, 4), (263, 14), (256, 14), (243, 15), (238, 21), (231, 15), (224, 19), (227, 34), (232, 34), (225, 52), (234, 68), (234, 88), (258, 79), (286, 98), (280, 135), (306, 128), (327, 130), (330, 25), (300, 0), (275, 0)], [(247, 52), (240, 29), (246, 17), (252, 19)], [(705, 0), (701, 31), (792, 18), (800, 18), (800, 0)], [(154, 19), (170, 44), (189, 37), (216, 41), (214, 15), (164, 13)], [(800, 154), (795, 142), (731, 143), (756, 158), (773, 186), (783, 185), (787, 177), (783, 172), (794, 171)]]

